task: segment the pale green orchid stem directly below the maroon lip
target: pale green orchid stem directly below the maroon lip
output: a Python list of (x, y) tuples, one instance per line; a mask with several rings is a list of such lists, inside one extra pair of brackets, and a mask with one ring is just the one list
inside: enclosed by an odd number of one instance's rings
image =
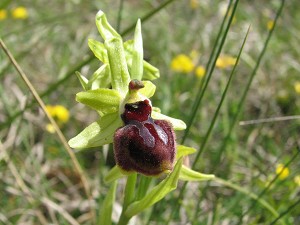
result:
[(127, 225), (131, 217), (125, 215), (125, 211), (130, 203), (134, 199), (134, 191), (136, 184), (137, 173), (131, 174), (127, 177), (127, 183), (125, 187), (125, 196), (123, 202), (122, 213), (118, 222), (118, 225)]

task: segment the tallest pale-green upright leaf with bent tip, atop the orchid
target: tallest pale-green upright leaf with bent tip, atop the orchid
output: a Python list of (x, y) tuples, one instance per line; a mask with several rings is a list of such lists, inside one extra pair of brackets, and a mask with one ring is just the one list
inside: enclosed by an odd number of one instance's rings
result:
[(96, 25), (105, 40), (104, 45), (108, 55), (112, 88), (125, 96), (128, 91), (130, 76), (122, 38), (107, 22), (106, 16), (101, 10), (96, 15)]

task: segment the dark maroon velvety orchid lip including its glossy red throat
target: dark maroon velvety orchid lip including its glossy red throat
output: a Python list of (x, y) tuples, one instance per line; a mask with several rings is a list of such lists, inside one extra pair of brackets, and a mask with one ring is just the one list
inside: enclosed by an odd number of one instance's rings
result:
[(175, 134), (165, 120), (151, 118), (149, 99), (125, 104), (121, 115), (125, 125), (115, 132), (114, 153), (124, 171), (148, 176), (172, 170), (175, 159)]

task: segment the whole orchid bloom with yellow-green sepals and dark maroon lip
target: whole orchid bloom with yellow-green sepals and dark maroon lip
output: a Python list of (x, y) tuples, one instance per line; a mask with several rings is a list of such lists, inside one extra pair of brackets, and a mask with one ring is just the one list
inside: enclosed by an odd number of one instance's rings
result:
[(195, 152), (176, 145), (174, 130), (184, 130), (185, 123), (152, 106), (150, 98), (156, 86), (151, 80), (160, 75), (143, 60), (141, 21), (137, 22), (134, 39), (125, 43), (102, 11), (96, 15), (96, 25), (104, 43), (89, 39), (88, 45), (102, 65), (89, 80), (77, 73), (84, 90), (77, 93), (76, 100), (96, 110), (99, 119), (72, 138), (69, 145), (84, 149), (113, 143), (117, 165), (105, 177), (108, 183), (132, 173), (167, 173), (143, 199), (128, 207), (127, 216), (131, 217), (174, 190), (178, 179), (200, 181), (214, 175), (198, 173), (182, 164), (183, 156)]

